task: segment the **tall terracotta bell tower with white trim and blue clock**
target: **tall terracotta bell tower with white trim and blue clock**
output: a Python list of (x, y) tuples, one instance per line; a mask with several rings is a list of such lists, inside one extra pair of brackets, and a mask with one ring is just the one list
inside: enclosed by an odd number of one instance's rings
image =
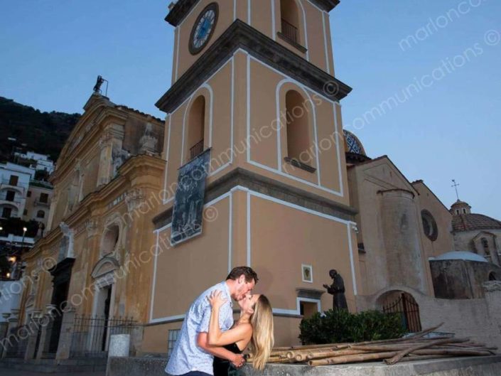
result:
[[(323, 289), (330, 269), (355, 311), (355, 211), (339, 104), (351, 88), (334, 76), (329, 20), (338, 3), (169, 7), (175, 43), (172, 86), (156, 103), (166, 112), (166, 169), (149, 315), (164, 331), (181, 327), (205, 286), (246, 264), (274, 306), (277, 345), (298, 341), (303, 315), (332, 308)], [(208, 149), (201, 233), (173, 246), (178, 169)]]

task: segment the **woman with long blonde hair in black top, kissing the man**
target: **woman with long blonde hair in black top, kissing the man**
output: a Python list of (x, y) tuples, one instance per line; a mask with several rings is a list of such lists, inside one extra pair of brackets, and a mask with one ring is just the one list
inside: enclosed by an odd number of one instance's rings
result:
[[(208, 344), (223, 346), (233, 353), (242, 353), (250, 344), (252, 365), (263, 370), (273, 348), (273, 313), (268, 298), (262, 294), (247, 294), (238, 301), (240, 317), (229, 331), (222, 332), (219, 327), (219, 310), (226, 299), (221, 291), (213, 291), (208, 296), (212, 312), (208, 332)], [(214, 376), (235, 376), (239, 370), (232, 363), (214, 358)]]

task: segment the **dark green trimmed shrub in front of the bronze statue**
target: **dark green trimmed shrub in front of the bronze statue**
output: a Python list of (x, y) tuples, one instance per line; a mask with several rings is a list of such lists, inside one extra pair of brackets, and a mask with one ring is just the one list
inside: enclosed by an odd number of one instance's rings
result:
[(304, 344), (363, 342), (400, 338), (406, 332), (399, 313), (330, 310), (303, 318), (299, 339)]

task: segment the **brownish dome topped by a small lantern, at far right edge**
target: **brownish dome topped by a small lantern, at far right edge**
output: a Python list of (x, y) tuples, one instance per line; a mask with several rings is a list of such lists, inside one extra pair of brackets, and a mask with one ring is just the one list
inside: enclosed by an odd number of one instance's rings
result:
[(471, 213), (471, 206), (457, 200), (451, 206), (453, 232), (471, 230), (501, 230), (501, 221), (483, 214)]

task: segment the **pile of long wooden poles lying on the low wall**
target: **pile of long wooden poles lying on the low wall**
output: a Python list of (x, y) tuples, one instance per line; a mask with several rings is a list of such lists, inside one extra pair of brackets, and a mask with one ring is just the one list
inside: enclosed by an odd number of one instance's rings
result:
[[(397, 362), (412, 360), (494, 355), (494, 350), (497, 350), (483, 343), (476, 343), (470, 338), (425, 338), (441, 325), (393, 340), (274, 348), (268, 362), (335, 365), (384, 360), (387, 365), (394, 365)], [(247, 358), (247, 362), (252, 362), (252, 355)]]

